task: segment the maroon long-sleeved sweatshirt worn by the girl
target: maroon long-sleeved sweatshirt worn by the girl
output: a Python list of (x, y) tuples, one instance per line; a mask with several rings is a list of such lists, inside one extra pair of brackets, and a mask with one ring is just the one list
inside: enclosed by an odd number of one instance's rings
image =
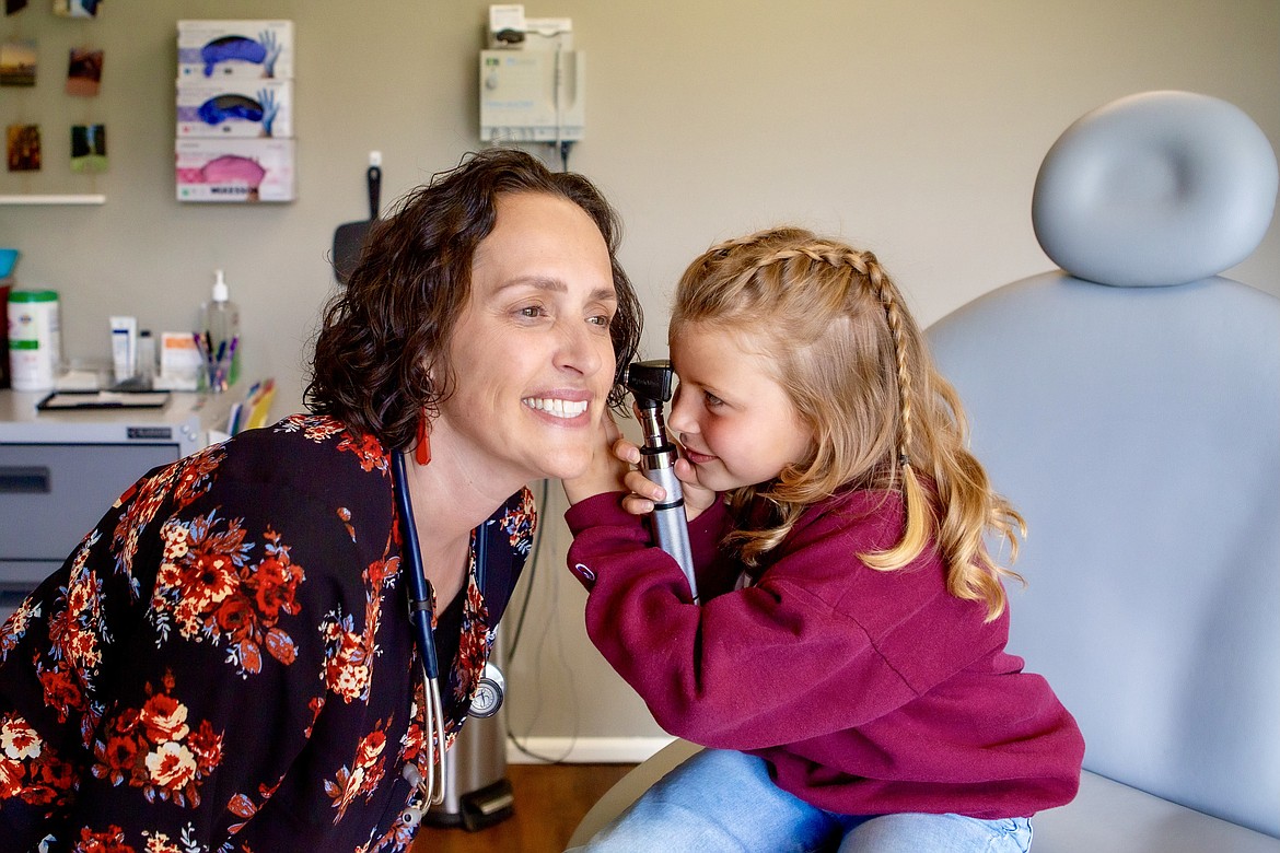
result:
[(946, 590), (928, 550), (897, 572), (856, 558), (896, 544), (900, 499), (810, 508), (753, 586), (718, 550), (723, 505), (690, 526), (703, 604), (620, 495), (566, 513), (586, 628), (671, 734), (771, 765), (833, 812), (1027, 817), (1070, 802), (1084, 740), (1039, 675), (1005, 652), (1009, 611)]

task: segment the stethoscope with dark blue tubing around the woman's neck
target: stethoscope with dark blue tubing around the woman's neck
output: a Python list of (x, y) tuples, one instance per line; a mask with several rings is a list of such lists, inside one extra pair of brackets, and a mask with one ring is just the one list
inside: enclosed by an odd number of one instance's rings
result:
[[(416, 826), (422, 820), (422, 815), (431, 807), (444, 802), (445, 775), (444, 775), (444, 703), (440, 701), (440, 664), (435, 657), (435, 630), (431, 628), (431, 597), (426, 588), (426, 574), (422, 570), (422, 550), (417, 542), (417, 524), (413, 522), (413, 503), (408, 494), (408, 472), (404, 467), (404, 453), (396, 450), (392, 453), (392, 482), (396, 491), (396, 504), (401, 517), (401, 533), (404, 540), (403, 574), (407, 577), (404, 584), (408, 595), (408, 619), (413, 629), (413, 643), (417, 646), (419, 659), (422, 661), (422, 683), (426, 701), (426, 730), (429, 733), (428, 749), (431, 749), (430, 740), (434, 740), (440, 751), (440, 760), (431, 762), (431, 770), (426, 779), (419, 772), (413, 763), (406, 763), (403, 776), (417, 788), (417, 794), (404, 808), (402, 818), (406, 824)], [(484, 593), (485, 556), (488, 550), (488, 536), (485, 527), (492, 522), (485, 522), (476, 531), (475, 540), (475, 572), (476, 586)], [(502, 706), (503, 678), (498, 668), (490, 662), (485, 664), (484, 673), (468, 710), (470, 716), (488, 717), (498, 712)]]

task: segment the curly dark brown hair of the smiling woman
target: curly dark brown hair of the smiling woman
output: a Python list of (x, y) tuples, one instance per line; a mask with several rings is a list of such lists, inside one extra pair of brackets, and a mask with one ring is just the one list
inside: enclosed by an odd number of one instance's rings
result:
[[(416, 439), (421, 412), (436, 412), (453, 382), (449, 339), (471, 295), (476, 247), (493, 231), (497, 201), (545, 193), (573, 202), (609, 249), (618, 309), (609, 327), (616, 371), (609, 405), (620, 408), (622, 368), (635, 357), (643, 313), (618, 263), (622, 224), (582, 175), (556, 173), (527, 152), (488, 148), (410, 192), (374, 223), (347, 286), (325, 308), (306, 405), (385, 448)], [(429, 373), (447, 377), (433, 385)]]

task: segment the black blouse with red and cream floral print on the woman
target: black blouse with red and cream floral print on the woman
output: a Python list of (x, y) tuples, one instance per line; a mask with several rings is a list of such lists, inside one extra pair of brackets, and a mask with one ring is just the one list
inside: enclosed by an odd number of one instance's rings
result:
[[(445, 748), (534, 526), (526, 489), (474, 533)], [(436, 749), (404, 595), (371, 436), (300, 414), (150, 472), (0, 629), (0, 847), (406, 850)]]

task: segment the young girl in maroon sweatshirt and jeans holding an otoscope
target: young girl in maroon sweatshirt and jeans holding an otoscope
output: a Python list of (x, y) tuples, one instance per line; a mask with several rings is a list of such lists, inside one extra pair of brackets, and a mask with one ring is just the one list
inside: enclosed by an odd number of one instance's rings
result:
[(593, 642), (708, 749), (588, 849), (1027, 850), (1084, 743), (1005, 652), (1016, 575), (984, 536), (1012, 558), (1023, 522), (879, 262), (791, 228), (722, 243), (669, 343), (703, 604), (637, 517), (666, 495), (625, 440), (566, 483), (568, 564)]

